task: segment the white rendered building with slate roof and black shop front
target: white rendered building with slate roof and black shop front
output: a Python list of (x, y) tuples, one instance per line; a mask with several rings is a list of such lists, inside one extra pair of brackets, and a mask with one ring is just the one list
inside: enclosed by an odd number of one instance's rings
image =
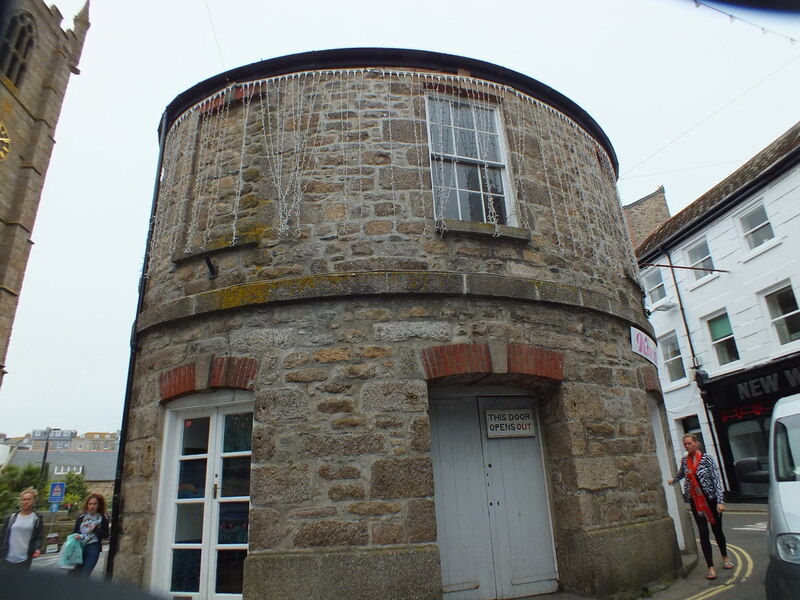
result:
[(800, 392), (800, 123), (636, 250), (675, 462), (702, 435), (726, 488), (765, 469), (775, 402)]

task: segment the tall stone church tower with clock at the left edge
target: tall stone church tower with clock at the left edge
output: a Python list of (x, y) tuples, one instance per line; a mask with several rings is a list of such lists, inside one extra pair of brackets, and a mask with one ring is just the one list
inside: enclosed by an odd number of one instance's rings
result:
[(41, 0), (0, 8), (0, 384), (30, 254), (55, 129), (89, 29), (89, 2), (72, 29)]

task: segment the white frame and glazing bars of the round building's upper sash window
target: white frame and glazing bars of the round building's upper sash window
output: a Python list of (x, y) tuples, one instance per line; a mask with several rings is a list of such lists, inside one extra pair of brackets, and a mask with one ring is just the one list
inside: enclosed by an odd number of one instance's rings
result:
[[(492, 160), (481, 159), (481, 158), (477, 158), (477, 157), (473, 157), (473, 156), (462, 156), (462, 155), (458, 155), (458, 154), (449, 154), (449, 153), (441, 152), (440, 151), (441, 148), (439, 150), (434, 148), (433, 147), (434, 135), (433, 135), (432, 130), (433, 130), (433, 126), (438, 124), (432, 119), (434, 111), (436, 110), (434, 108), (434, 106), (433, 106), (434, 102), (446, 102), (446, 103), (448, 103), (449, 106), (452, 106), (454, 104), (463, 104), (463, 105), (471, 106), (473, 108), (479, 108), (479, 109), (483, 109), (483, 110), (489, 111), (491, 113), (492, 122), (494, 123), (494, 128), (495, 128), (496, 136), (497, 136), (497, 153), (498, 153), (497, 160), (496, 161), (492, 161)], [(426, 107), (426, 110), (427, 110), (426, 123), (427, 123), (427, 128), (428, 128), (428, 157), (430, 159), (430, 167), (431, 167), (431, 187), (432, 187), (432, 191), (433, 191), (434, 218), (437, 221), (440, 220), (440, 219), (454, 218), (455, 220), (466, 221), (466, 222), (471, 222), (471, 223), (492, 223), (492, 220), (489, 218), (490, 215), (488, 214), (488, 207), (487, 207), (487, 203), (486, 203), (486, 197), (489, 195), (489, 192), (485, 191), (484, 189), (482, 189), (481, 192), (480, 192), (481, 199), (482, 199), (482, 204), (483, 204), (483, 207), (484, 207), (484, 211), (483, 211), (484, 212), (484, 217), (483, 217), (483, 219), (481, 221), (472, 220), (472, 219), (468, 218), (468, 216), (466, 216), (466, 218), (463, 218), (464, 215), (462, 215), (462, 213), (461, 213), (461, 205), (460, 205), (461, 203), (458, 202), (458, 200), (456, 200), (456, 205), (457, 205), (456, 206), (456, 210), (458, 211), (458, 216), (457, 217), (447, 216), (447, 215), (440, 215), (439, 214), (441, 206), (442, 206), (442, 202), (446, 202), (446, 201), (444, 201), (441, 198), (441, 192), (439, 192), (437, 194), (437, 189), (442, 187), (444, 189), (455, 190), (456, 191), (456, 198), (458, 198), (459, 190), (458, 190), (458, 183), (455, 182), (455, 181), (451, 182), (452, 185), (454, 186), (452, 188), (450, 186), (447, 186), (447, 187), (445, 187), (445, 186), (437, 186), (435, 184), (436, 174), (439, 173), (440, 170), (442, 170), (444, 164), (457, 165), (457, 164), (461, 163), (461, 164), (468, 164), (468, 165), (472, 165), (472, 166), (478, 166), (479, 169), (488, 167), (488, 168), (491, 168), (493, 170), (496, 169), (496, 170), (499, 171), (501, 184), (503, 186), (503, 192), (502, 192), (503, 209), (505, 210), (506, 214), (505, 214), (505, 223), (503, 223), (501, 219), (498, 219), (497, 223), (500, 224), (500, 225), (508, 225), (508, 226), (511, 226), (511, 227), (518, 227), (519, 226), (519, 218), (518, 218), (518, 215), (517, 215), (517, 204), (516, 204), (515, 199), (514, 199), (513, 188), (512, 188), (512, 185), (511, 185), (512, 182), (511, 182), (511, 177), (510, 177), (510, 174), (509, 174), (510, 166), (509, 166), (509, 160), (508, 160), (508, 150), (507, 150), (507, 145), (506, 145), (505, 132), (504, 132), (504, 129), (502, 127), (503, 119), (502, 119), (502, 115), (501, 115), (501, 112), (500, 112), (500, 107), (497, 106), (496, 104), (492, 104), (492, 103), (478, 102), (478, 101), (475, 101), (474, 99), (471, 99), (471, 98), (470, 99), (466, 99), (466, 98), (452, 97), (452, 96), (445, 96), (445, 95), (430, 95), (430, 96), (427, 96), (425, 98), (425, 107)], [(474, 131), (476, 131), (476, 132), (479, 131), (478, 128), (477, 128), (477, 125), (476, 125), (476, 128), (474, 129)], [(456, 142), (453, 143), (453, 149), (454, 149), (454, 151), (457, 150)], [(480, 152), (480, 149), (479, 149), (479, 152)], [(441, 176), (444, 177), (444, 175), (441, 175)], [(450, 182), (449, 179), (447, 181)], [(480, 177), (480, 184), (481, 184), (481, 188), (484, 188), (484, 186), (486, 185), (486, 179), (483, 176)]]

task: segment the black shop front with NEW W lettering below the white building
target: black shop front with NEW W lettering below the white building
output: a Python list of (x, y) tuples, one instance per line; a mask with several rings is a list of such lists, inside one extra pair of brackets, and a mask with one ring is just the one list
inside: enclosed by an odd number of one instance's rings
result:
[(708, 378), (700, 371), (697, 385), (719, 437), (731, 494), (743, 499), (767, 496), (772, 409), (781, 398), (800, 394), (800, 352), (720, 377)]

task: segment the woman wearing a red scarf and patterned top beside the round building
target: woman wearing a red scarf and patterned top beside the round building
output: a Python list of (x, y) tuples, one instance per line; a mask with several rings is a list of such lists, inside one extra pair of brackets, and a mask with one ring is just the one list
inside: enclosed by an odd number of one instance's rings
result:
[(692, 516), (700, 533), (700, 547), (708, 565), (706, 579), (716, 579), (717, 570), (711, 556), (711, 541), (708, 537), (708, 526), (714, 532), (714, 539), (722, 554), (722, 567), (732, 569), (733, 563), (728, 560), (728, 548), (725, 534), (722, 533), (722, 513), (725, 512), (725, 497), (722, 492), (722, 480), (717, 463), (708, 454), (700, 451), (700, 442), (693, 433), (683, 436), (683, 447), (686, 455), (681, 459), (681, 468), (674, 479), (667, 481), (669, 485), (686, 479), (683, 484), (683, 497), (692, 508)]

